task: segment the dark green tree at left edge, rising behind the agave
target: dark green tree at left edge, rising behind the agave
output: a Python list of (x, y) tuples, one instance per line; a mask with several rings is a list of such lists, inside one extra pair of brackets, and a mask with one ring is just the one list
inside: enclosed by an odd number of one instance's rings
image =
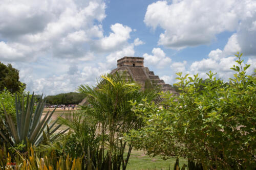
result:
[(19, 81), (18, 72), (11, 64), (5, 65), (0, 62), (0, 91), (6, 87), (14, 93), (19, 91), (22, 86), (26, 87), (26, 84)]

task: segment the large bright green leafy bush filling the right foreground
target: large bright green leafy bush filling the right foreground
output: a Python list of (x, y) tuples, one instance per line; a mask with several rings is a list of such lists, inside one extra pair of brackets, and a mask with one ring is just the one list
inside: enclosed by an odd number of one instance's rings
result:
[[(211, 71), (179, 76), (180, 95), (162, 93), (162, 107), (142, 102), (133, 110), (146, 124), (128, 137), (138, 149), (164, 157), (184, 157), (203, 169), (254, 169), (256, 167), (256, 78), (246, 75), (249, 65), (225, 83)], [(203, 87), (203, 88), (201, 88)]]

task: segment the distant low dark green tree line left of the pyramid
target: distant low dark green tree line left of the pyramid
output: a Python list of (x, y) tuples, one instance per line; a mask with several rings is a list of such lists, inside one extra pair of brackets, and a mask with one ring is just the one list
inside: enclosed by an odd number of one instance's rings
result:
[(69, 92), (69, 93), (61, 93), (57, 95), (48, 95), (46, 97), (47, 103), (51, 105), (58, 104), (79, 104), (86, 95), (83, 93)]

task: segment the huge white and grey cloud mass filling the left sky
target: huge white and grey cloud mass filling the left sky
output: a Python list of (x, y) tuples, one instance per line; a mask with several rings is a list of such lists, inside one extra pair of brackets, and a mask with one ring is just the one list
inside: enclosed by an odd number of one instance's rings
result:
[[(0, 3), (0, 60), (20, 70), (27, 90), (46, 95), (74, 91), (133, 56), (132, 28), (114, 23), (104, 34), (104, 0), (32, 1)], [(136, 31), (136, 30), (134, 30)]]

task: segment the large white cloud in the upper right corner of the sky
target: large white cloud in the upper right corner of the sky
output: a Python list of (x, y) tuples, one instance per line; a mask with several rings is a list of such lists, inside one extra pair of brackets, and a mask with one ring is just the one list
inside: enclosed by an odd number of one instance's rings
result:
[(254, 28), (255, 11), (253, 0), (183, 0), (172, 1), (172, 4), (157, 1), (148, 5), (144, 22), (153, 29), (161, 27), (164, 30), (160, 34), (159, 45), (181, 49), (209, 44), (217, 34), (225, 31), (238, 31), (245, 37), (248, 31), (242, 33), (242, 30)]

